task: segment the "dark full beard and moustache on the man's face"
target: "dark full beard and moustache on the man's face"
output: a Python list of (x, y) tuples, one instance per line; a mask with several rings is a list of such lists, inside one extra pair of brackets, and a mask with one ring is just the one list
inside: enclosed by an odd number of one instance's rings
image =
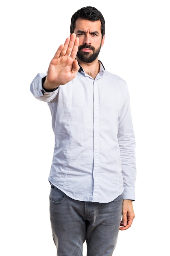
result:
[[(93, 53), (90, 52), (82, 52), (81, 49), (83, 48), (89, 48), (93, 51)], [(98, 57), (98, 54), (100, 52), (101, 49), (101, 44), (100, 47), (98, 47), (98, 49), (95, 50), (95, 48), (91, 45), (80, 45), (78, 47), (78, 52), (77, 52), (77, 57), (86, 63), (92, 63), (93, 61), (96, 60), (96, 58)]]

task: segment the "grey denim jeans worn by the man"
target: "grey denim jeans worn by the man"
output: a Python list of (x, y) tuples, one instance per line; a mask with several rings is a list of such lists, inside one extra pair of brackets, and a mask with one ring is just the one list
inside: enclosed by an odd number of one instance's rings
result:
[(116, 247), (123, 195), (109, 203), (81, 202), (51, 186), (50, 220), (57, 256), (111, 256)]

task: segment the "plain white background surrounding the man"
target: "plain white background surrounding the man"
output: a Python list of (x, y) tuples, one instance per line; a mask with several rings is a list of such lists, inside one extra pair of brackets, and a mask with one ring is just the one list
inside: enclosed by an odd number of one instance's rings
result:
[[(100, 2), (100, 3), (99, 3)], [(54, 136), (30, 83), (70, 36), (72, 14), (106, 21), (99, 59), (129, 85), (136, 136), (135, 220), (114, 256), (169, 255), (169, 0), (0, 2), (0, 255), (52, 256), (48, 175)], [(84, 249), (85, 255), (86, 249)]]

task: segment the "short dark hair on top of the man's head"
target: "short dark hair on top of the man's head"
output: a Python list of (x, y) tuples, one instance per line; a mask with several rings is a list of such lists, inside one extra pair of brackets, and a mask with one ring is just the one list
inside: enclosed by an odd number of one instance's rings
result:
[(76, 20), (83, 19), (83, 20), (91, 20), (91, 21), (101, 21), (101, 33), (102, 38), (105, 35), (105, 19), (102, 16), (102, 13), (98, 11), (95, 7), (87, 6), (79, 9), (76, 11), (72, 18), (71, 18), (71, 25), (70, 25), (70, 33), (74, 33)]

